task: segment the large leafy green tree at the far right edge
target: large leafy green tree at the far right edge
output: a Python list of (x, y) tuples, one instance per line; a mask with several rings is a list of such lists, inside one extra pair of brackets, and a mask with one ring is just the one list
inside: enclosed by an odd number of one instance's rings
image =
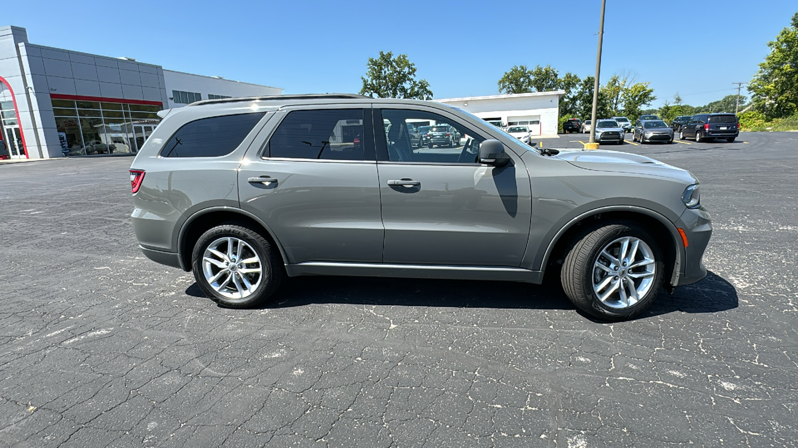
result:
[(768, 119), (798, 112), (798, 13), (791, 22), (768, 42), (770, 54), (748, 87), (755, 107)]

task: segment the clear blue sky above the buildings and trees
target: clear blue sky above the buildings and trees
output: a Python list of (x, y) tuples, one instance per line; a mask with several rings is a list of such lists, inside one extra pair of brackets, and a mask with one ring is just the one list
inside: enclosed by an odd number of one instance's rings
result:
[[(513, 65), (595, 70), (599, 0), (570, 2), (4, 2), (32, 43), (285, 88), (358, 92), (366, 61), (406, 53), (436, 98), (492, 95)], [(761, 7), (759, 6), (761, 5)], [(765, 6), (766, 5), (766, 6)], [(608, 0), (602, 81), (706, 104), (750, 81), (795, 0)]]

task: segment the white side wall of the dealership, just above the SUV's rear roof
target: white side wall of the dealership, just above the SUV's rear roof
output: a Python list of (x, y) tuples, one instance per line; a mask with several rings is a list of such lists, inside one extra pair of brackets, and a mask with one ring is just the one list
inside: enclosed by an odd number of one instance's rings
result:
[[(172, 90), (182, 92), (196, 92), (202, 95), (203, 100), (208, 99), (208, 94), (222, 96), (267, 96), (282, 95), (282, 88), (267, 85), (249, 84), (247, 82), (231, 81), (217, 77), (204, 77), (192, 73), (164, 70), (166, 93), (172, 97)], [(168, 100), (169, 108), (180, 108), (186, 104)]]

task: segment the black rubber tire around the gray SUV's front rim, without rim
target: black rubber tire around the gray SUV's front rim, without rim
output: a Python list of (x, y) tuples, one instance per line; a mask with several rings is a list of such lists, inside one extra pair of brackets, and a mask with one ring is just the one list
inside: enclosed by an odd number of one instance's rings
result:
[[(650, 247), (655, 260), (654, 280), (646, 295), (640, 297), (637, 303), (627, 308), (612, 308), (600, 301), (596, 295), (593, 289), (593, 276), (594, 270), (600, 272), (600, 269), (595, 268), (599, 253), (610, 242), (622, 237), (639, 238)], [(582, 311), (606, 320), (626, 320), (643, 312), (658, 296), (664, 278), (664, 261), (664, 253), (657, 241), (642, 226), (634, 222), (608, 224), (586, 234), (571, 248), (563, 261), (560, 282), (566, 296)]]

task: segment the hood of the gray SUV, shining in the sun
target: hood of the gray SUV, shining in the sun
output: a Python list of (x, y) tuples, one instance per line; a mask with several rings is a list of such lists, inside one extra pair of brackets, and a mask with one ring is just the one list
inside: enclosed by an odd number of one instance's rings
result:
[(681, 180), (686, 185), (698, 182), (695, 176), (687, 170), (628, 152), (560, 150), (555, 157), (585, 170), (654, 175)]

